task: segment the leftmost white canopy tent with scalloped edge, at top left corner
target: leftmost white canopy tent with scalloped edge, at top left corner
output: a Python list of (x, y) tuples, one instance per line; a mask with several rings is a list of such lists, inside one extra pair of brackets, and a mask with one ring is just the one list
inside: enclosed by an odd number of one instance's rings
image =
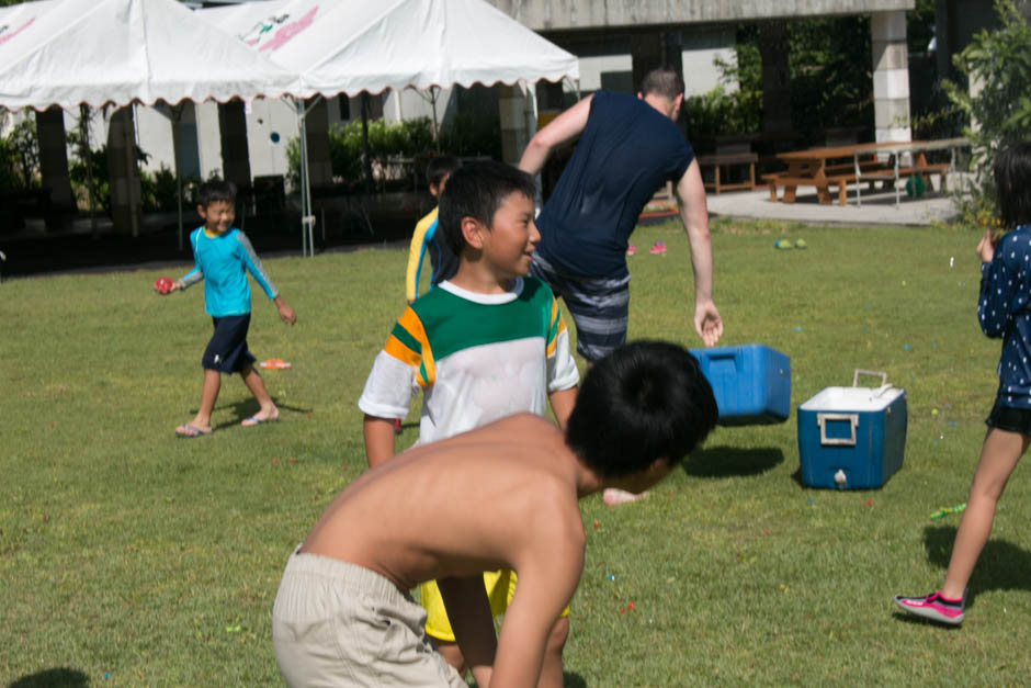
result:
[[(185, 100), (301, 92), (295, 72), (174, 0), (43, 0), (7, 8), (0, 20), (0, 108), (8, 110), (163, 101), (175, 116)], [(180, 189), (180, 247), (181, 196)]]

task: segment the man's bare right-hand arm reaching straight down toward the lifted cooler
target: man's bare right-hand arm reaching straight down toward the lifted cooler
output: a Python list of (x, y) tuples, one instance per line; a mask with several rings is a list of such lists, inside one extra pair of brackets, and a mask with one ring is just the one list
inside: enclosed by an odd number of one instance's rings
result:
[(709, 235), (709, 208), (705, 205), (705, 185), (698, 160), (677, 182), (680, 222), (691, 245), (691, 267), (694, 270), (694, 330), (706, 347), (720, 341), (723, 320), (713, 303), (713, 251)]

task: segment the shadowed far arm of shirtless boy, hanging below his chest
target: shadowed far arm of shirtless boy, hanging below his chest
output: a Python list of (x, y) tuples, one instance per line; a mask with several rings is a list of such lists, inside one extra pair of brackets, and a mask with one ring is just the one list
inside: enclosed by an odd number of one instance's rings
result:
[(484, 588), (484, 576), (451, 576), (437, 582), (462, 656), (480, 686), (490, 686), (498, 639)]

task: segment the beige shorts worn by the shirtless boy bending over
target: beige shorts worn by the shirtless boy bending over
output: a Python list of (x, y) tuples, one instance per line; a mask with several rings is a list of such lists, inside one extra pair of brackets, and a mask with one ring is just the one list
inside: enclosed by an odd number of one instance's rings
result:
[(272, 608), (272, 644), (290, 686), (466, 688), (424, 624), (422, 607), (379, 574), (295, 551)]

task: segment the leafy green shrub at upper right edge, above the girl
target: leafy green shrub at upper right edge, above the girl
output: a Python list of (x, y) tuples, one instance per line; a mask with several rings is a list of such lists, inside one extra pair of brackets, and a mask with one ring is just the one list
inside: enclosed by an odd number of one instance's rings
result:
[(995, 212), (992, 163), (1006, 146), (1027, 140), (1031, 129), (1031, 26), (1013, 0), (996, 0), (1000, 26), (982, 30), (953, 56), (964, 84), (945, 81), (949, 99), (968, 117), (974, 184), (964, 214), (985, 222)]

